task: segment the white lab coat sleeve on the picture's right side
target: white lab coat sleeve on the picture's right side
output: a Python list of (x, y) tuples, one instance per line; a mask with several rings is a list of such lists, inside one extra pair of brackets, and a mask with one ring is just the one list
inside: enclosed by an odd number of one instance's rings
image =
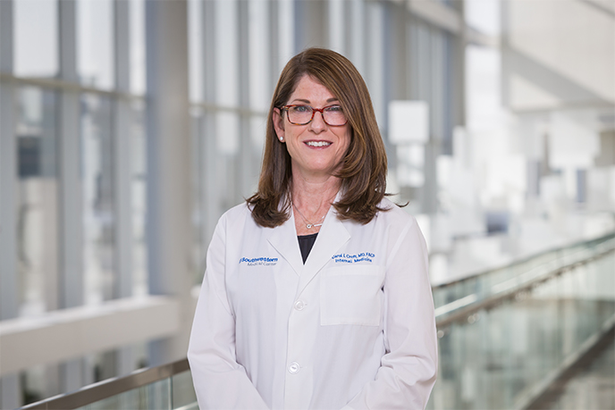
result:
[(437, 336), (425, 239), (412, 219), (390, 243), (383, 285), (386, 354), (375, 380), (344, 410), (424, 409), (434, 387)]

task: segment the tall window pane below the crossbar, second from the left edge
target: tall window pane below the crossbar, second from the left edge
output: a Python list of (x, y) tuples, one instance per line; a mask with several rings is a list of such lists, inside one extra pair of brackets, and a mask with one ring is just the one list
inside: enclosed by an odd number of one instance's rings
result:
[(114, 297), (114, 203), (111, 102), (81, 98), (84, 281), (86, 304)]

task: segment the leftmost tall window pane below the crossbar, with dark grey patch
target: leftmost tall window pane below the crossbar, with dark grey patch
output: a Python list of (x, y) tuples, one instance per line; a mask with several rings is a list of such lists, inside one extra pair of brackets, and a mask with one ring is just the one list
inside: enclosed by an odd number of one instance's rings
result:
[(18, 91), (17, 252), (20, 315), (57, 307), (58, 180), (55, 94)]

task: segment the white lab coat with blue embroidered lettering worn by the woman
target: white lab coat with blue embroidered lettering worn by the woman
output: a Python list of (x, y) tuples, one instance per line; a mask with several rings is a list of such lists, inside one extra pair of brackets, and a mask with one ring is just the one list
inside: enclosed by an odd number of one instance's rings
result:
[(303, 264), (293, 217), (224, 213), (188, 358), (205, 409), (419, 409), (437, 347), (425, 240), (388, 199), (372, 222), (332, 207)]

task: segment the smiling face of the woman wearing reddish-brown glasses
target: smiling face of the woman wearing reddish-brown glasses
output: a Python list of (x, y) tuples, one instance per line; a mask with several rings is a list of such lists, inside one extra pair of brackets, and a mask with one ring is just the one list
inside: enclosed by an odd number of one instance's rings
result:
[[(328, 88), (309, 75), (299, 79), (287, 105), (310, 105), (323, 108), (338, 105), (340, 101)], [(327, 125), (322, 113), (314, 113), (306, 125), (294, 125), (287, 113), (274, 109), (274, 127), (278, 138), (283, 138), (289, 154), (293, 175), (304, 178), (327, 177), (335, 173), (350, 145), (350, 125)]]

